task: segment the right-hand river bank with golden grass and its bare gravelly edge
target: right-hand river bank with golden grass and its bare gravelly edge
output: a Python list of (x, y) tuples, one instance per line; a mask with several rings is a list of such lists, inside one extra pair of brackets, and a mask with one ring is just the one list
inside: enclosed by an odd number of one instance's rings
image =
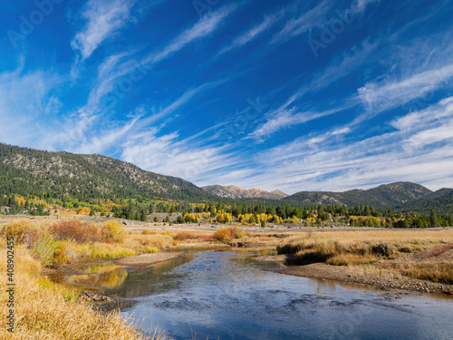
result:
[(299, 277), (453, 294), (451, 229), (306, 233), (277, 252), (255, 261), (286, 264), (280, 272)]

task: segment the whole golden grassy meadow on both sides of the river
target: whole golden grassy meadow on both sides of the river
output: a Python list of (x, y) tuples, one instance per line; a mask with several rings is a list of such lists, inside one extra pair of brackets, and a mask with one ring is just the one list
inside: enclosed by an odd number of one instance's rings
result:
[[(148, 226), (149, 227), (149, 226)], [(152, 227), (151, 227), (152, 228)], [(277, 248), (293, 264), (324, 262), (339, 267), (374, 268), (401, 276), (453, 284), (453, 229), (382, 229), (358, 231), (252, 233), (244, 228), (217, 230), (126, 229), (116, 220), (21, 219), (0, 227), (0, 284), (6, 287), (6, 238), (13, 237), (15, 289), (14, 339), (144, 339), (119, 313), (101, 314), (78, 298), (80, 292), (45, 277), (49, 269), (133, 257), (166, 250), (209, 249), (238, 242)], [(278, 245), (278, 246), (277, 246)], [(289, 258), (288, 257), (288, 258)], [(103, 267), (108, 273), (116, 265)], [(96, 269), (99, 271), (98, 269)], [(83, 278), (83, 277), (82, 277)], [(82, 279), (81, 278), (81, 279)], [(7, 295), (0, 295), (6, 306)], [(0, 317), (6, 319), (6, 308)], [(153, 335), (148, 339), (165, 339)]]

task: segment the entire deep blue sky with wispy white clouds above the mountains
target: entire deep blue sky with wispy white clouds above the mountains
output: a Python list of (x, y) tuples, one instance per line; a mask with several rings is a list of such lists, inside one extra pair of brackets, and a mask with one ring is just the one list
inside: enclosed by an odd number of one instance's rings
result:
[(0, 141), (198, 186), (453, 187), (451, 1), (0, 5)]

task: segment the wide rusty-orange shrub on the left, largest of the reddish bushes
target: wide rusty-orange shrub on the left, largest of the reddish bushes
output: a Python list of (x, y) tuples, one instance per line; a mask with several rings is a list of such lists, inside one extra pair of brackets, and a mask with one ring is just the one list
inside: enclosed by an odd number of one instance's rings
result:
[(60, 240), (73, 240), (77, 243), (101, 242), (106, 238), (106, 231), (91, 222), (79, 219), (63, 220), (53, 224), (49, 232)]

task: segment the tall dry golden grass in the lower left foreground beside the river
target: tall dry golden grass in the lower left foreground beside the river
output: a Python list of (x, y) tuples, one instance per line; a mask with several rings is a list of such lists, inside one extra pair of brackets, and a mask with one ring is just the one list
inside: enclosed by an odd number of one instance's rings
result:
[[(5, 250), (0, 251), (2, 258)], [(36, 275), (40, 264), (25, 248), (16, 248), (14, 335), (0, 328), (2, 339), (145, 339), (137, 330), (126, 325), (119, 313), (102, 315), (74, 302), (67, 289)], [(0, 285), (6, 284), (5, 261), (0, 267)], [(6, 306), (6, 294), (0, 295), (0, 305)], [(6, 319), (6, 308), (0, 308)], [(5, 322), (5, 321), (4, 321)], [(159, 335), (148, 339), (164, 339)]]

